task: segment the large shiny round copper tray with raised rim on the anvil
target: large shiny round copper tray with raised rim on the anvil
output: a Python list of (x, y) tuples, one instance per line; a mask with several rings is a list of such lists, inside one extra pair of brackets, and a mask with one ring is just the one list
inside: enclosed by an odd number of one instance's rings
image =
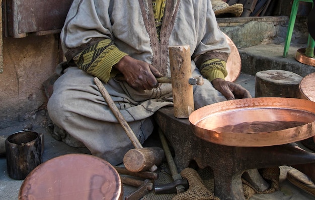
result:
[(227, 146), (272, 146), (315, 135), (315, 102), (261, 97), (219, 102), (189, 116), (194, 134)]

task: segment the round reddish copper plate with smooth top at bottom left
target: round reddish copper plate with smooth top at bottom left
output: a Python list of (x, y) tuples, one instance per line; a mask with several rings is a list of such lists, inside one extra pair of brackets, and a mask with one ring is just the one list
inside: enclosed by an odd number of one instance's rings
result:
[(123, 199), (116, 169), (88, 154), (66, 154), (38, 165), (23, 181), (19, 199)]

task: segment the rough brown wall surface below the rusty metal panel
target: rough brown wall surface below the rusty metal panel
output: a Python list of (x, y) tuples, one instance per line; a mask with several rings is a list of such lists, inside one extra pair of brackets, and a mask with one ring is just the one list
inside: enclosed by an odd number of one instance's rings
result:
[(0, 129), (36, 120), (45, 115), (47, 102), (42, 86), (58, 63), (54, 35), (3, 40), (4, 69), (0, 74)]

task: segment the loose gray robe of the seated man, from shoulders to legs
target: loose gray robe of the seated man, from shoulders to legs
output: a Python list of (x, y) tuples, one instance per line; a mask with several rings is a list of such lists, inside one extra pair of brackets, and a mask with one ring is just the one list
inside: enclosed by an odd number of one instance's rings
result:
[[(109, 38), (121, 51), (152, 64), (165, 76), (171, 75), (169, 46), (190, 46), (193, 76), (200, 75), (196, 68), (200, 60), (229, 53), (210, 1), (168, 1), (165, 12), (159, 42), (151, 1), (74, 0), (60, 35), (63, 51), (71, 59), (93, 39)], [(66, 69), (54, 84), (48, 113), (57, 126), (83, 142), (92, 154), (116, 165), (133, 146), (93, 78), (77, 67)], [(110, 79), (104, 86), (141, 143), (153, 130), (154, 112), (173, 105), (171, 84), (139, 91), (126, 82)], [(194, 87), (195, 109), (225, 100), (207, 80)]]

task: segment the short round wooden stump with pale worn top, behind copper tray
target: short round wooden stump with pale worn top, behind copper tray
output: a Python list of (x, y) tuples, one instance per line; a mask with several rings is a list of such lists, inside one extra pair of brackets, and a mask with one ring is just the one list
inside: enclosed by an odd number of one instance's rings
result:
[(284, 70), (266, 70), (256, 73), (255, 97), (299, 98), (302, 77)]

